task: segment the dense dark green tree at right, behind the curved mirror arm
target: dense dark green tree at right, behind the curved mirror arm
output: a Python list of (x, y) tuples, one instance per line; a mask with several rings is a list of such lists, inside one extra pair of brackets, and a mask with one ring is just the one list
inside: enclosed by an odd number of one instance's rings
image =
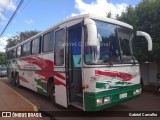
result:
[(118, 19), (151, 35), (153, 51), (150, 53), (141, 38), (136, 41), (134, 53), (138, 60), (160, 61), (160, 0), (142, 0), (137, 6), (129, 6)]

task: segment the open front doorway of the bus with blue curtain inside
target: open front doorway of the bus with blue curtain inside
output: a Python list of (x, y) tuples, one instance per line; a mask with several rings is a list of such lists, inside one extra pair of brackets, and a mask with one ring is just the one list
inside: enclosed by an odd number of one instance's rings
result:
[(68, 82), (70, 104), (83, 109), (81, 24), (68, 28)]

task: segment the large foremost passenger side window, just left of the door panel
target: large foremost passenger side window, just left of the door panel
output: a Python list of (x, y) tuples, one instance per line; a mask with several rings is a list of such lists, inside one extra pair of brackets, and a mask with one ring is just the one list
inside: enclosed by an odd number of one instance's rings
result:
[(43, 36), (43, 52), (50, 52), (53, 50), (54, 38), (52, 32), (49, 32)]

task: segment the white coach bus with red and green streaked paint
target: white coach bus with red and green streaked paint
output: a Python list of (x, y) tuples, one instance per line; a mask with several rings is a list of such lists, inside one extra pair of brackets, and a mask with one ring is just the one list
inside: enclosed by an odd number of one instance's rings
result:
[(138, 36), (127, 23), (92, 14), (67, 18), (8, 48), (7, 76), (13, 85), (48, 96), (55, 104), (99, 111), (141, 94)]

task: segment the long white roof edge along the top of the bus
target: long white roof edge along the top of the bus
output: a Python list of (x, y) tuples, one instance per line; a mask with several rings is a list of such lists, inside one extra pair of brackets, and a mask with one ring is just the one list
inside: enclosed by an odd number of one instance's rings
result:
[(52, 30), (53, 28), (56, 28), (64, 23), (67, 23), (67, 22), (70, 22), (70, 21), (73, 21), (73, 20), (76, 20), (76, 19), (85, 19), (85, 18), (91, 18), (91, 19), (95, 19), (95, 20), (101, 20), (101, 21), (105, 21), (105, 22), (109, 22), (109, 23), (112, 23), (112, 24), (116, 24), (116, 25), (120, 25), (120, 26), (123, 26), (123, 27), (127, 27), (127, 28), (130, 28), (130, 29), (133, 29), (133, 27), (127, 23), (124, 23), (124, 22), (121, 22), (121, 21), (118, 21), (118, 20), (115, 20), (115, 19), (112, 19), (112, 18), (107, 18), (107, 17), (102, 17), (102, 16), (97, 16), (97, 15), (94, 15), (94, 14), (83, 14), (83, 15), (77, 15), (77, 16), (74, 16), (74, 17), (70, 17), (70, 18), (67, 18), (66, 20), (63, 20), (62, 22), (50, 27), (49, 29), (45, 30), (45, 31), (42, 31), (36, 35), (34, 35), (33, 37), (17, 44), (16, 46), (13, 46), (13, 47), (10, 47), (10, 48), (7, 48), (6, 51), (10, 51), (14, 48), (16, 48), (17, 46), (19, 45), (22, 45), (24, 44), (25, 42), (27, 41), (30, 41), (32, 40), (33, 38), (37, 37), (37, 36), (40, 36), (44, 33), (46, 33), (47, 31), (49, 30)]

